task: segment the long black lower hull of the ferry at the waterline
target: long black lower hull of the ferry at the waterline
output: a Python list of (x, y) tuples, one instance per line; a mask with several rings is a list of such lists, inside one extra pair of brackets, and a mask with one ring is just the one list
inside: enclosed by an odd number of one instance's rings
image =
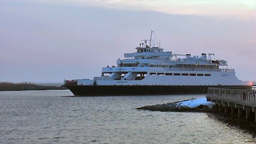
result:
[(209, 87), (251, 90), (252, 86), (63, 85), (76, 96), (202, 94)]

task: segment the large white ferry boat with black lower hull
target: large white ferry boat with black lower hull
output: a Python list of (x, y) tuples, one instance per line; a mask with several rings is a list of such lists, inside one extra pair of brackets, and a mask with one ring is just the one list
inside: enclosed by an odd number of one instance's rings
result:
[[(156, 95), (206, 93), (208, 87), (251, 89), (253, 83), (239, 80), (226, 60), (216, 60), (214, 54), (175, 54), (155, 46), (151, 30), (149, 40), (143, 40), (136, 52), (125, 53), (117, 66), (102, 68), (93, 79), (65, 80), (64, 85), (74, 95)], [(148, 45), (149, 43), (149, 45)]]

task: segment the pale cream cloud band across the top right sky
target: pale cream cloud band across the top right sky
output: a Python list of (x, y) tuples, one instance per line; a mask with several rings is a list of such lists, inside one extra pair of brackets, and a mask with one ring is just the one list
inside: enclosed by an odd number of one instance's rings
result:
[[(31, 0), (27, 0), (31, 1)], [(256, 18), (256, 1), (202, 1), (202, 0), (34, 0), (51, 4), (76, 4), (80, 6), (105, 7), (132, 11), (156, 11), (167, 14), (203, 15), (214, 17)]]

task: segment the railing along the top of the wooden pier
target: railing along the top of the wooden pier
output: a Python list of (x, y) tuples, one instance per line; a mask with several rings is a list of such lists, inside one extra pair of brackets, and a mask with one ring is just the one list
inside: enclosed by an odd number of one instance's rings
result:
[(207, 96), (229, 101), (250, 103), (251, 105), (256, 106), (256, 91), (253, 90), (219, 89), (210, 87)]

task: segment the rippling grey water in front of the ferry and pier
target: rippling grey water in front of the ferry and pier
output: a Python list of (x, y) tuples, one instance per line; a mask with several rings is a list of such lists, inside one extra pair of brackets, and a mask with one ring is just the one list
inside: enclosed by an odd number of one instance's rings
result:
[(255, 143), (206, 113), (136, 110), (196, 95), (63, 97), (68, 90), (0, 92), (0, 143)]

